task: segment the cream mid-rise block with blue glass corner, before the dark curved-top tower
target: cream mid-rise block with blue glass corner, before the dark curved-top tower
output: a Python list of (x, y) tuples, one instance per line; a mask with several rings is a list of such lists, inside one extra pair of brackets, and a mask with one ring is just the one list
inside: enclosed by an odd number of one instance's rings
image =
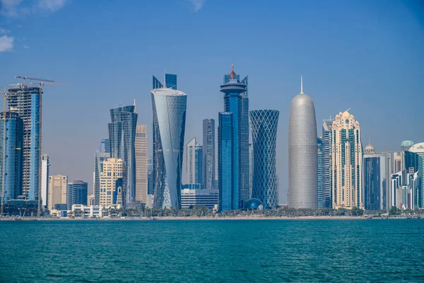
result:
[(124, 161), (119, 158), (107, 158), (100, 172), (100, 206), (117, 207), (122, 205), (122, 178)]

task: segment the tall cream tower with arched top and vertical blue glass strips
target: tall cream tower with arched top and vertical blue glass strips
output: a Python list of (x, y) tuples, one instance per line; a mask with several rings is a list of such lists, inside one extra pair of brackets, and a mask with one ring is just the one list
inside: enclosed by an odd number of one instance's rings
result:
[(332, 207), (364, 207), (360, 127), (348, 110), (336, 115), (331, 139)]

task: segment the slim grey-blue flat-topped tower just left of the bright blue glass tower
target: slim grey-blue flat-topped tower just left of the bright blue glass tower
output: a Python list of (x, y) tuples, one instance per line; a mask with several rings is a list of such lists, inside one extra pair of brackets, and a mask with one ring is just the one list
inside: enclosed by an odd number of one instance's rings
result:
[(215, 120), (203, 120), (203, 185), (206, 190), (215, 188)]

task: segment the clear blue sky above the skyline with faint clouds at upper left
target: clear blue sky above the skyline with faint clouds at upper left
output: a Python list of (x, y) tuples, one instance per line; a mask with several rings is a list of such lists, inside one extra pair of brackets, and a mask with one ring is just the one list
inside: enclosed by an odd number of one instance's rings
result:
[[(250, 108), (280, 110), (280, 199), (288, 186), (290, 100), (312, 97), (322, 120), (351, 108), (377, 151), (424, 141), (423, 1), (0, 0), (0, 86), (45, 86), (43, 144), (51, 173), (93, 179), (109, 109), (137, 101), (151, 125), (152, 75), (178, 75), (188, 94), (186, 141), (223, 110), (231, 63), (249, 75)], [(13, 37), (13, 38), (12, 38)], [(150, 133), (149, 133), (150, 134)], [(151, 137), (149, 137), (151, 143)]]

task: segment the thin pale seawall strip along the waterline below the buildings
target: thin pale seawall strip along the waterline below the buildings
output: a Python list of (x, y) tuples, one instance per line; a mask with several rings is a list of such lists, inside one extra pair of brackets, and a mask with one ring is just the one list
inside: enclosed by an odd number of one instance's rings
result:
[[(401, 217), (364, 217), (364, 216), (298, 216), (298, 217), (249, 217), (249, 216), (240, 216), (240, 217), (118, 217), (118, 218), (69, 218), (69, 217), (60, 217), (60, 218), (44, 218), (44, 217), (4, 217), (1, 218), (0, 221), (170, 221), (170, 220), (216, 220), (216, 221), (222, 221), (222, 220), (372, 220), (372, 219), (411, 219), (406, 216)], [(418, 219), (418, 218), (413, 218)]]

